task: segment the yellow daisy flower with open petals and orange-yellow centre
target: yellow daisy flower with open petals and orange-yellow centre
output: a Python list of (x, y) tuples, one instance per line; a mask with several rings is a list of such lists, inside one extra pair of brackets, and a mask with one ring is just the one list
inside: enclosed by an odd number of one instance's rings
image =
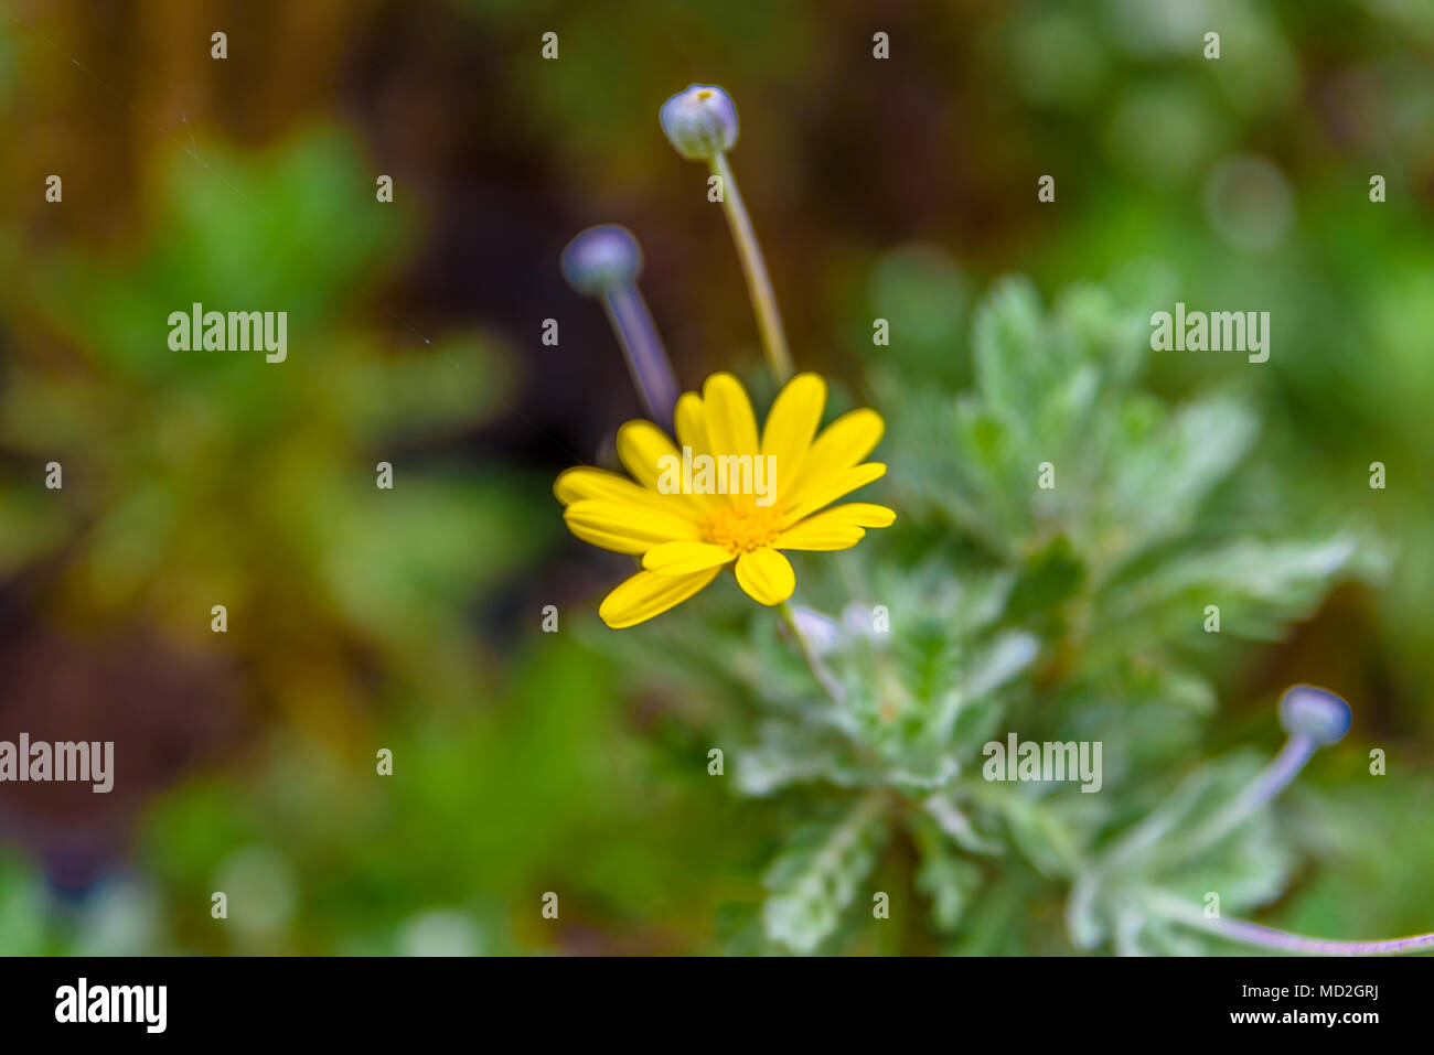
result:
[[(754, 601), (780, 605), (796, 588), (782, 550), (847, 549), (868, 528), (891, 525), (896, 513), (868, 502), (826, 509), (880, 477), (886, 466), (862, 462), (882, 437), (880, 414), (853, 410), (817, 434), (825, 406), (826, 383), (799, 374), (779, 393), (759, 437), (741, 381), (713, 374), (701, 396), (688, 391), (677, 401), (677, 444), (651, 421), (618, 430), (618, 459), (632, 479), (589, 466), (564, 472), (554, 493), (566, 506), (568, 529), (594, 546), (642, 558), (642, 571), (602, 601), (602, 621), (622, 628), (651, 619), (727, 565)], [(710, 487), (685, 486), (684, 477), (674, 489), (674, 466), (703, 463), (703, 456), (708, 466), (736, 464), (724, 456), (747, 456), (746, 464), (756, 466), (760, 457), (771, 486), (760, 493), (693, 493)]]

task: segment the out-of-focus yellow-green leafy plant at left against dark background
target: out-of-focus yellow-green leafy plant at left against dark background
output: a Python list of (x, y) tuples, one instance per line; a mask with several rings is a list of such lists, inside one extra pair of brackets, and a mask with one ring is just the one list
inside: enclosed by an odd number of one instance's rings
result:
[[(298, 659), (282, 645), (297, 635), (303, 669), (268, 687), (294, 715), (344, 707), (351, 646), (400, 684), (463, 700), (466, 605), (532, 552), (542, 522), (502, 470), (410, 474), (409, 459), (500, 406), (502, 358), (469, 334), (386, 353), (344, 325), (400, 228), (369, 205), (341, 136), (311, 132), (258, 163), (194, 153), (202, 163), (161, 168), (149, 234), (125, 259), (62, 249), (16, 267), (24, 282), (7, 290), (26, 325), (76, 350), (19, 357), (0, 401), (0, 440), (67, 476), (69, 523), (46, 536), (63, 562), (54, 596), (191, 641), (222, 602), (261, 667)], [(294, 353), (176, 354), (156, 318), (195, 302), (282, 305)], [(374, 486), (379, 462), (394, 466), (391, 493)]]

